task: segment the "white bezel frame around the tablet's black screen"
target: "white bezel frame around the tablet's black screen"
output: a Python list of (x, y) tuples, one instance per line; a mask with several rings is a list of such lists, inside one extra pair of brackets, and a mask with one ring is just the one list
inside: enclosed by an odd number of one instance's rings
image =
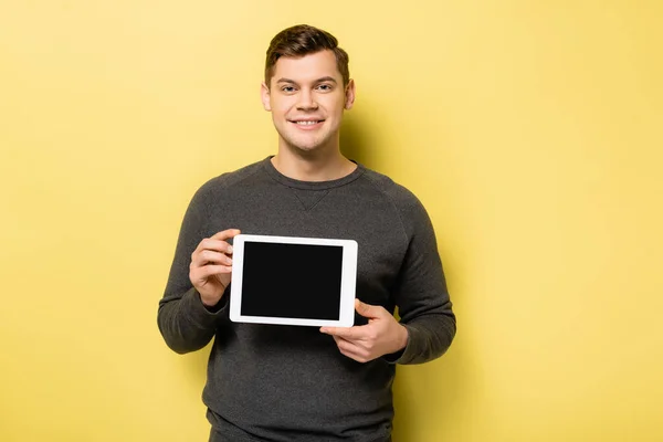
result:
[[(338, 320), (303, 319), (288, 317), (266, 317), (242, 315), (242, 274), (244, 269), (244, 243), (282, 243), (343, 246), (343, 265), (340, 280), (340, 303)], [(239, 234), (232, 243), (232, 282), (230, 287), (230, 319), (235, 323), (278, 324), (301, 326), (351, 327), (355, 324), (355, 296), (357, 284), (357, 251), (355, 240), (336, 240), (322, 238), (275, 236)], [(275, 287), (275, 292), (278, 288)], [(277, 293), (274, 293), (277, 296)]]

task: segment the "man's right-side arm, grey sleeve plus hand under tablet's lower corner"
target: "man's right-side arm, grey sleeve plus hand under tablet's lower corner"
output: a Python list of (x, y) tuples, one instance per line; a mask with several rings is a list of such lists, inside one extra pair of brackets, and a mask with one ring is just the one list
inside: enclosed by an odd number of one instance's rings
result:
[(408, 249), (393, 291), (401, 322), (382, 306), (356, 303), (367, 325), (322, 327), (340, 352), (359, 362), (383, 357), (391, 364), (422, 364), (440, 357), (455, 336), (435, 233), (423, 206), (411, 197), (401, 220)]

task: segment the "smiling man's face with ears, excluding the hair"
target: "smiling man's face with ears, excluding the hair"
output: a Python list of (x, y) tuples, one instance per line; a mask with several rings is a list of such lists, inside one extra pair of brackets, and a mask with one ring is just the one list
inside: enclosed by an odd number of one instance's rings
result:
[(270, 87), (263, 83), (262, 101), (272, 113), (280, 147), (311, 152), (338, 148), (344, 109), (352, 107), (355, 83), (344, 87), (332, 51), (299, 59), (282, 56)]

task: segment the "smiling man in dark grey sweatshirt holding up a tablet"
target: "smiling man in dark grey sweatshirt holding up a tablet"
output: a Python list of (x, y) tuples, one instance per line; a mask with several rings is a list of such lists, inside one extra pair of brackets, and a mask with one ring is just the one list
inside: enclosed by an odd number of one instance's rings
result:
[[(277, 154), (211, 179), (187, 210), (158, 324), (180, 354), (214, 338), (203, 391), (210, 441), (389, 441), (396, 365), (434, 359), (455, 335), (425, 209), (340, 152), (354, 101), (348, 55), (333, 35), (308, 25), (282, 31), (262, 85)], [(230, 322), (240, 232), (356, 240), (356, 325)], [(273, 282), (273, 296), (286, 290)]]

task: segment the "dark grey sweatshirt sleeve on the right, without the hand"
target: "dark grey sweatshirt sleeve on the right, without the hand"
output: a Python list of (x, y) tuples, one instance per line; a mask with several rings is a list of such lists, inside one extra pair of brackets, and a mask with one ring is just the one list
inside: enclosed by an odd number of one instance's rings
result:
[(387, 356), (393, 364), (422, 364), (442, 356), (456, 332), (435, 232), (421, 204), (412, 200), (401, 212), (408, 249), (394, 288), (401, 324), (408, 329), (406, 348)]

